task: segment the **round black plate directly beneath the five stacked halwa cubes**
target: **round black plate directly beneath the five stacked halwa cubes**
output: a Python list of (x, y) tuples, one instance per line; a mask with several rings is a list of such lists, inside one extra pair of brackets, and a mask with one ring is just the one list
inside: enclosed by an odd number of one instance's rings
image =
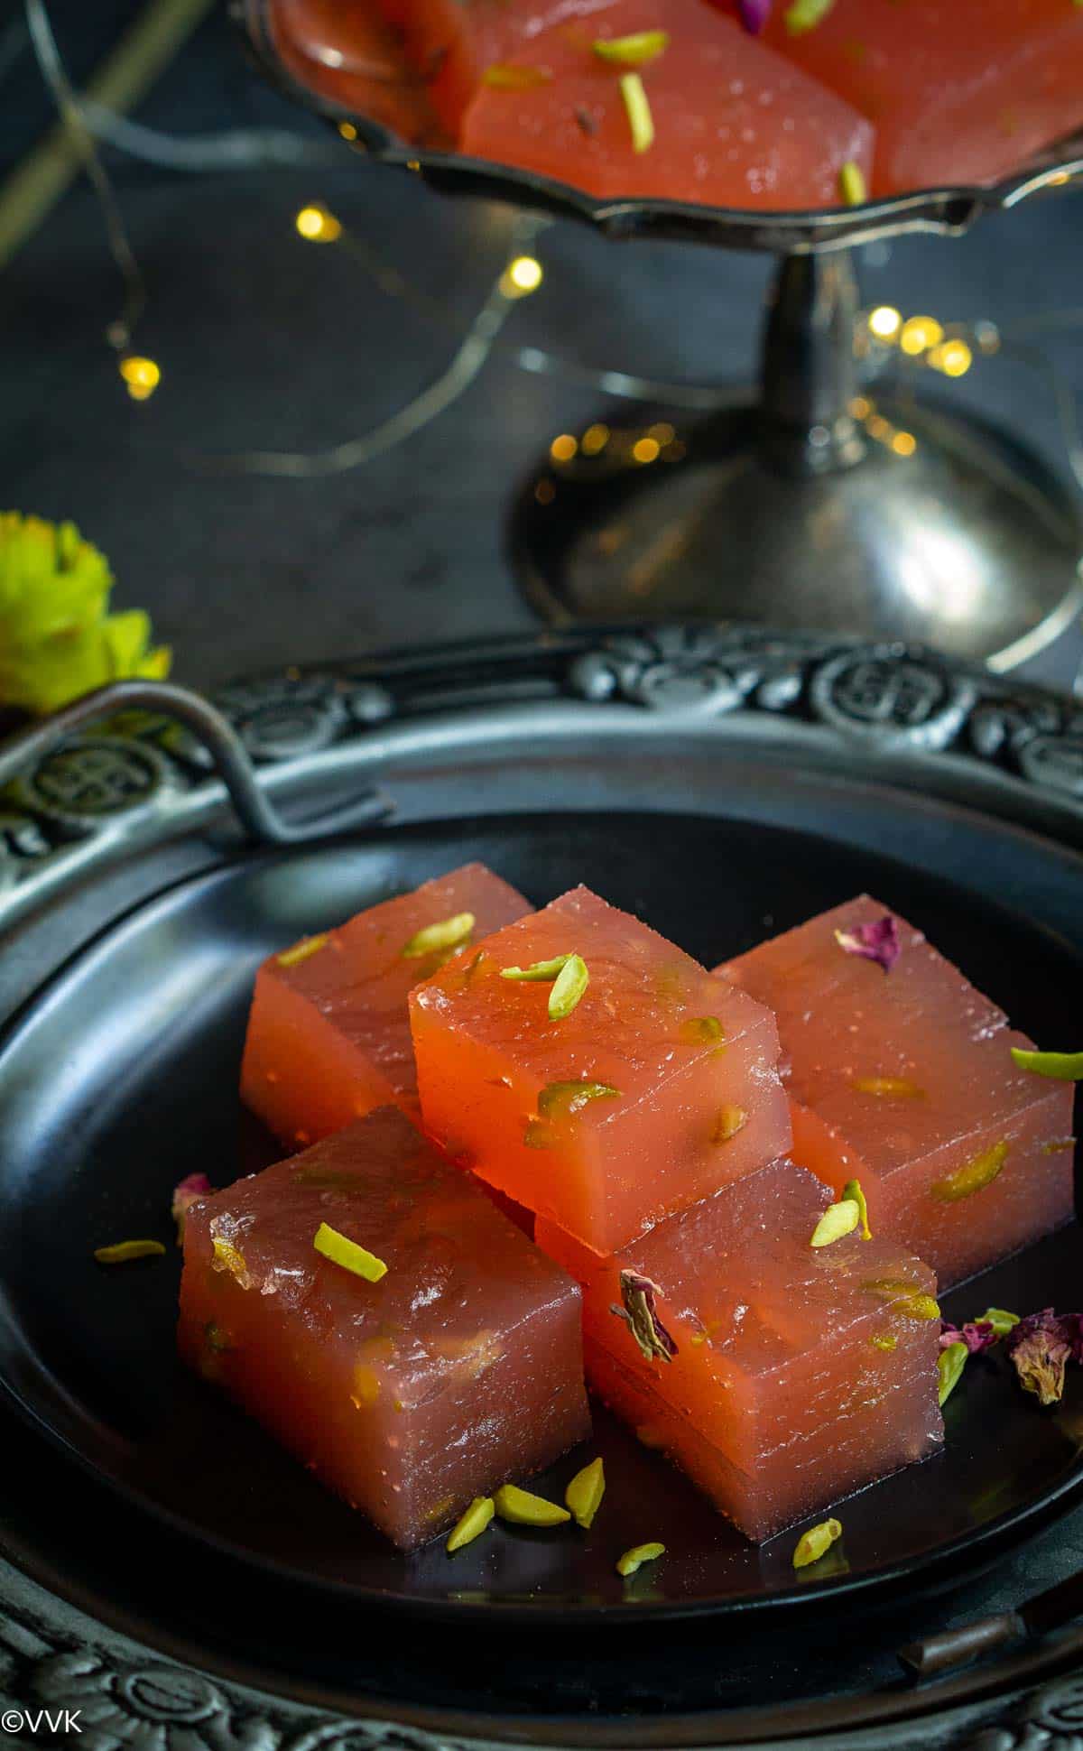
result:
[[(812, 783), (801, 779), (805, 807)], [(101, 1271), (91, 1257), (129, 1234), (168, 1240), (170, 1191), (185, 1173), (206, 1170), (227, 1184), (275, 1159), (236, 1098), (257, 961), (472, 858), (539, 905), (584, 881), (707, 965), (870, 890), (919, 923), (1018, 1026), (1071, 1044), (1083, 928), (1073, 939), (1045, 928), (1034, 902), (1041, 846), (1027, 847), (1020, 886), (997, 904), (833, 832), (831, 788), (819, 795), (822, 832), (787, 819), (784, 795), (777, 819), (742, 819), (723, 777), (710, 816), (667, 812), (663, 826), (640, 809), (602, 819), (562, 809), (380, 828), (240, 860), (107, 930), (30, 1003), (0, 1049), (0, 1369), (19, 1408), (108, 1478), (133, 1511), (164, 1515), (254, 1565), (415, 1611), (567, 1616), (812, 1600), (959, 1557), (973, 1562), (1069, 1502), (1083, 1478), (1083, 1394), (1043, 1415), (1003, 1362), (983, 1361), (952, 1399), (943, 1455), (849, 1502), (843, 1546), (808, 1576), (794, 1576), (793, 1534), (763, 1548), (745, 1543), (604, 1415), (597, 1448), (609, 1494), (590, 1537), (499, 1527), (455, 1562), (439, 1543), (402, 1557), (175, 1369), (175, 1254), (122, 1271)], [(574, 802), (574, 786), (562, 791)], [(966, 835), (957, 823), (955, 856)], [(980, 861), (976, 839), (973, 854)], [(1073, 1227), (947, 1304), (961, 1317), (989, 1303), (1074, 1306), (1081, 1264)], [(542, 1488), (560, 1492), (584, 1457), (569, 1455)], [(614, 1558), (644, 1537), (660, 1537), (667, 1558), (625, 1586)]]

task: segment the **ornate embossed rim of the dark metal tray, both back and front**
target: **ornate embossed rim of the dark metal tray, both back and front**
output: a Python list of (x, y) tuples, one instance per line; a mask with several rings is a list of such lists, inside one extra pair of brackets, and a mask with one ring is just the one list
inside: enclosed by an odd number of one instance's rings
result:
[[(112, 863), (136, 851), (154, 854), (170, 839), (222, 819), (226, 790), (199, 748), (205, 727), (194, 721), (206, 718), (206, 707), (168, 686), (142, 692), (138, 714), (128, 721), (115, 714), (131, 704), (122, 686), (87, 704), (86, 718), (110, 711), (105, 732), (79, 730), (42, 751), (49, 737), (44, 725), (2, 751), (23, 767), (0, 819), (0, 926), (12, 937), (35, 912), (54, 912)], [(185, 699), (194, 735), (178, 735), (173, 723), (178, 702), (185, 716)], [(733, 744), (775, 732), (800, 737), (836, 763), (871, 758), (891, 783), (969, 800), (1055, 842), (1083, 846), (1083, 711), (1043, 688), (905, 644), (726, 625), (581, 629), (290, 671), (226, 688), (217, 706), (212, 741), (220, 723), (234, 751), (252, 762), (240, 765), (248, 804), (252, 795), (264, 802), (296, 798), (327, 776), (369, 781), (395, 741), (439, 737), (448, 716), (471, 716), (483, 727), (486, 714), (530, 716), (541, 707), (563, 721), (565, 734), (590, 734), (593, 721), (616, 734), (644, 725), (660, 732), (691, 727)], [(38, 753), (30, 758), (33, 746)], [(233, 781), (236, 802), (236, 772)], [(252, 809), (247, 826), (252, 837), (268, 837)], [(334, 830), (336, 821), (324, 814), (311, 837)], [(51, 1578), (44, 1579), (49, 1586)], [(416, 1711), (390, 1718), (394, 1711), (381, 1705), (381, 1718), (371, 1719), (359, 1698), (359, 1718), (327, 1714), (318, 1698), (269, 1695), (273, 1679), (266, 1674), (234, 1669), (212, 1679), (198, 1669), (198, 1649), (166, 1644), (159, 1653), (184, 1663), (161, 1663), (140, 1641), (140, 1627), (105, 1628), (16, 1567), (0, 1567), (5, 1709), (24, 1709), (35, 1698), (51, 1707), (91, 1702), (103, 1735), (98, 1742), (128, 1742), (138, 1751), (191, 1744), (208, 1751), (224, 1744), (248, 1751), (315, 1751), (324, 1744), (437, 1751), (451, 1742), (446, 1723), (418, 1721)], [(1076, 1632), (1059, 1648), (1015, 1662), (1008, 1676), (978, 1670), (917, 1691), (910, 1702), (896, 1698), (871, 1726), (849, 1728), (843, 1712), (815, 1728), (817, 1742), (917, 1751), (934, 1737), (973, 1751), (1060, 1744), (1078, 1751), (1083, 1672), (1066, 1676), (1066, 1669), (1078, 1667), (1081, 1656), (1083, 1634)], [(261, 1683), (262, 1691), (252, 1688)], [(691, 1737), (688, 1726), (674, 1723), (674, 1740), (737, 1742), (728, 1739), (724, 1716), (696, 1716), (696, 1723)], [(516, 1733), (520, 1728), (516, 1723)], [(805, 1726), (789, 1742), (810, 1742), (810, 1732)], [(453, 1728), (457, 1744), (499, 1737), (492, 1718)], [(551, 1732), (539, 1725), (530, 1739), (667, 1742), (661, 1723), (632, 1721), (616, 1739), (602, 1728), (569, 1735), (556, 1725)]]

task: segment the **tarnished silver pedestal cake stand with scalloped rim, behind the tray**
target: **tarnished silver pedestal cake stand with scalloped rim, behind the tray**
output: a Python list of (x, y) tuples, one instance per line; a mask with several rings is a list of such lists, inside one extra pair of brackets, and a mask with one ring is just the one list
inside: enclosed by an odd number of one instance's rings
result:
[[(1013, 432), (857, 383), (859, 243), (962, 236), (1083, 175), (1083, 142), (990, 187), (922, 189), (824, 212), (600, 201), (581, 189), (430, 151), (301, 84), (276, 53), (269, 0), (234, 0), (248, 49), (348, 149), (434, 187), (593, 224), (779, 257), (756, 396), (696, 422), (651, 408), (567, 432), (511, 508), (518, 580), (551, 622), (703, 616), (917, 639), (1011, 669), (1083, 608), (1083, 508)], [(355, 137), (353, 137), (355, 135)], [(898, 443), (905, 432), (905, 443)]]

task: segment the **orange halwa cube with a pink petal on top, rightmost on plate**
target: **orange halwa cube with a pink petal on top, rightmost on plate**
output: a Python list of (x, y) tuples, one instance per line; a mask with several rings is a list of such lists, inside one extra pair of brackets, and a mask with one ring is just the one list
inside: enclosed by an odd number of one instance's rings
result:
[(905, 919), (889, 974), (840, 949), (885, 912), (863, 895), (717, 972), (779, 1017), (794, 1159), (836, 1194), (859, 1178), (873, 1233), (947, 1287), (1071, 1217), (1073, 1086), (1018, 1070), (1031, 1042)]

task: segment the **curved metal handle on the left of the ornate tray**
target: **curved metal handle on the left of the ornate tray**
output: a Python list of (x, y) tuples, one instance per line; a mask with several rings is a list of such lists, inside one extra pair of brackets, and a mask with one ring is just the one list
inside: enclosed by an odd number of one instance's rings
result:
[(0, 786), (10, 784), (23, 767), (51, 753), (94, 718), (131, 709), (161, 713), (191, 730), (210, 753), (241, 826), (250, 839), (264, 846), (303, 844), (308, 839), (346, 832), (390, 814), (390, 802), (369, 790), (357, 800), (339, 804), (304, 821), (283, 821), (262, 790), (245, 744), (227, 718), (199, 693), (171, 681), (110, 681), (108, 686), (84, 693), (82, 699), (54, 711), (42, 723), (12, 735), (0, 746)]

